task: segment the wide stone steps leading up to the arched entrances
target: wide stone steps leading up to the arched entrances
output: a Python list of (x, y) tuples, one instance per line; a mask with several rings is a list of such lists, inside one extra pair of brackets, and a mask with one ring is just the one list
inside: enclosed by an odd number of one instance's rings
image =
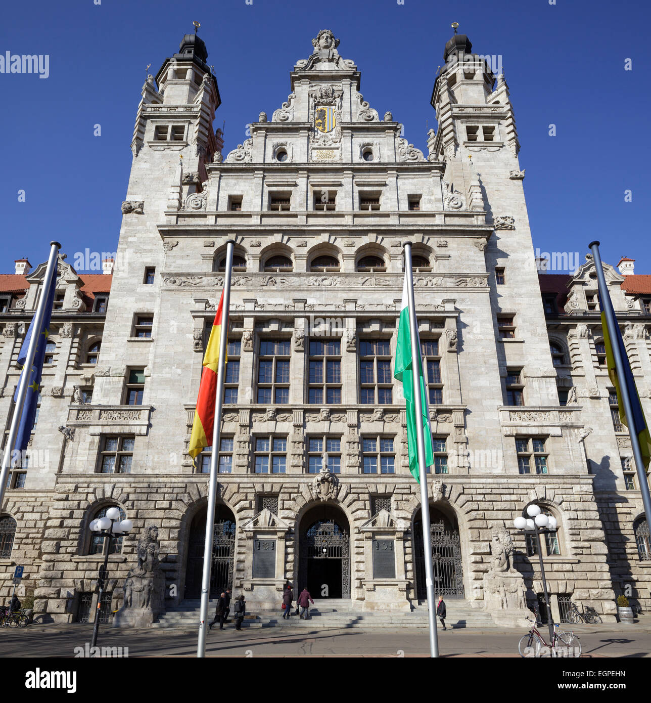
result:
[[(154, 622), (152, 627), (188, 627), (196, 628), (199, 623), (199, 600), (184, 600), (180, 605), (169, 608)], [(447, 600), (448, 628), (494, 628), (495, 624), (485, 610), (471, 607), (467, 600)], [(209, 621), (214, 617), (216, 600), (211, 600), (208, 612)], [(292, 612), (294, 612), (292, 607)], [(227, 627), (232, 627), (232, 607)], [(242, 627), (291, 627), (291, 628), (399, 628), (428, 627), (427, 603), (414, 603), (412, 612), (369, 612), (362, 611), (357, 601), (350, 598), (316, 599), (310, 606), (310, 619), (301, 620), (292, 615), (289, 620), (282, 619), (282, 612), (262, 610), (247, 614)], [(440, 626), (440, 624), (439, 624)]]

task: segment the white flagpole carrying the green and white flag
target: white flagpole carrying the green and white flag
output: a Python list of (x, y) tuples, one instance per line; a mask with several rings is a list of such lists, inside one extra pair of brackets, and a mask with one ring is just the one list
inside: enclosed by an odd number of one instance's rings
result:
[(432, 562), (432, 536), (430, 534), (430, 499), (427, 491), (427, 467), (425, 465), (425, 437), (423, 434), (423, 406), (421, 404), (420, 361), (418, 322), (414, 299), (414, 274), (412, 271), (412, 243), (405, 242), (405, 271), (409, 295), (409, 333), (412, 339), (412, 378), (414, 382), (414, 405), (416, 406), (416, 446), (418, 449), (419, 482), (421, 484), (421, 523), (423, 526), (423, 549), (425, 550), (425, 583), (429, 616), (430, 657), (438, 657), (438, 634), (436, 632), (436, 605), (434, 598), (434, 565)]

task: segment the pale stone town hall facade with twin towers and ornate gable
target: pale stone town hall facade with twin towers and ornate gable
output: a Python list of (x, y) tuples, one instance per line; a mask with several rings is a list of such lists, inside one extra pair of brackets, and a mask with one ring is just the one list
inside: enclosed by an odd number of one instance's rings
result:
[[(357, 610), (417, 607), (419, 486), (393, 380), (409, 240), (434, 435), (435, 588), (483, 608), (506, 527), (535, 602), (537, 553), (512, 526), (537, 503), (558, 520), (544, 546), (555, 609), (572, 598), (613, 620), (619, 593), (650, 604), (648, 529), (593, 262), (572, 276), (538, 270), (504, 75), (463, 35), (444, 59), (426, 154), (364, 100), (327, 30), (291, 70), (287, 99), (225, 156), (204, 42), (186, 34), (147, 78), (115, 265), (84, 275), (59, 262), (29, 459), (1, 506), (2, 597), (24, 565), (37, 612), (85, 619), (108, 549), (107, 615), (149, 525), (165, 607), (198, 597), (210, 451), (195, 466), (187, 450), (233, 239), (213, 592), (232, 585), (249, 610), (277, 608), (289, 579)], [(618, 266), (605, 266), (607, 282), (650, 416), (650, 277)], [(4, 441), (44, 270), (20, 259), (0, 276)], [(112, 505), (134, 529), (104, 545), (88, 524)]]

